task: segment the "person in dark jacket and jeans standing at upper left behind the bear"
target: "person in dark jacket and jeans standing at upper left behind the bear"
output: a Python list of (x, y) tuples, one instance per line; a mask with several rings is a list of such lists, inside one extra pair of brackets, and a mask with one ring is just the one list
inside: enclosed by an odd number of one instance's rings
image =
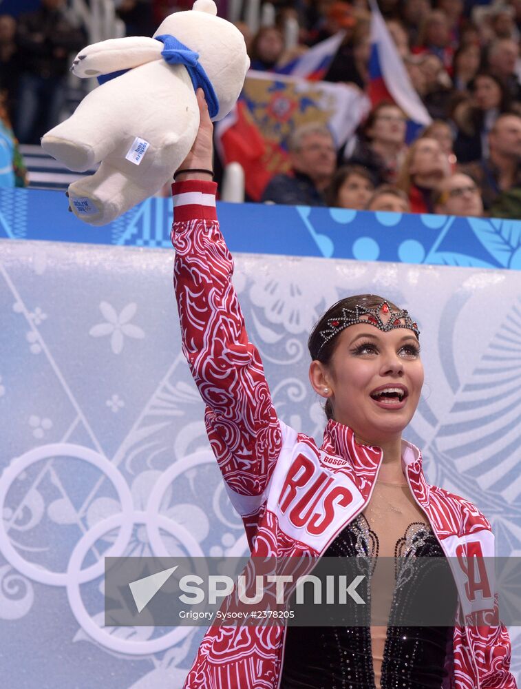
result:
[(59, 122), (65, 103), (69, 54), (85, 45), (85, 34), (65, 14), (65, 0), (41, 0), (21, 14), (17, 41), (23, 56), (16, 127), (21, 143), (39, 143)]

